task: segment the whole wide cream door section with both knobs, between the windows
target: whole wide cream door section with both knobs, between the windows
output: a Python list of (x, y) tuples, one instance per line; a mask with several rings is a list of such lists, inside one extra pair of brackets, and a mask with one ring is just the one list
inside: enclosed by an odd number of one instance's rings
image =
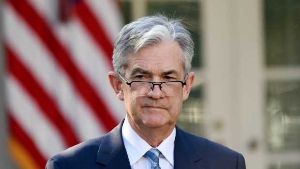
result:
[(261, 0), (201, 0), (207, 136), (266, 169)]

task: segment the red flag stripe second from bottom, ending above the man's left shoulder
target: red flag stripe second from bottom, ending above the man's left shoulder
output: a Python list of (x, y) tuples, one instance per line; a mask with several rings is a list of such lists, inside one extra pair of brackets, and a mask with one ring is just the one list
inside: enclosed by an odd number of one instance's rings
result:
[(73, 146), (79, 143), (71, 125), (61, 115), (55, 100), (52, 99), (36, 79), (30, 74), (26, 66), (18, 60), (13, 50), (5, 45), (6, 56), (8, 58), (8, 70), (19, 81), (23, 88), (34, 99), (38, 107), (45, 113), (45, 116), (53, 123), (60, 131), (66, 146)]

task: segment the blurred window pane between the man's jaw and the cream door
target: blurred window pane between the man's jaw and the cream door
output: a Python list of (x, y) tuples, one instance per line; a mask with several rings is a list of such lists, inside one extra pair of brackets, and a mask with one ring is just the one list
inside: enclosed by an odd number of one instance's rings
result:
[(203, 112), (203, 87), (193, 87), (189, 99), (183, 102), (183, 107), (177, 124), (185, 131), (204, 136), (205, 113)]

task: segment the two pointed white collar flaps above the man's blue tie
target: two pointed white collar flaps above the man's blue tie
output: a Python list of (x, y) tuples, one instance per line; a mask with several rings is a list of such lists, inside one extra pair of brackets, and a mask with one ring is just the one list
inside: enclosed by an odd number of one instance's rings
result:
[[(170, 136), (165, 138), (157, 149), (164, 155), (168, 162), (174, 166), (174, 141), (176, 136), (176, 129), (174, 127)], [(152, 147), (141, 138), (131, 127), (128, 122), (127, 116), (125, 117), (122, 126), (122, 137), (124, 146), (128, 154), (130, 166), (133, 166), (146, 152)]]

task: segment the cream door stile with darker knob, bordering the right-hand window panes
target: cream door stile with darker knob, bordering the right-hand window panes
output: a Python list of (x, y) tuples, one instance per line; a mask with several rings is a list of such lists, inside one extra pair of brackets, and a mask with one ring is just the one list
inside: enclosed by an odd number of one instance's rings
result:
[[(267, 169), (263, 1), (235, 0), (238, 5), (238, 55), (242, 152), (249, 169)], [(251, 148), (253, 147), (253, 148)]]

